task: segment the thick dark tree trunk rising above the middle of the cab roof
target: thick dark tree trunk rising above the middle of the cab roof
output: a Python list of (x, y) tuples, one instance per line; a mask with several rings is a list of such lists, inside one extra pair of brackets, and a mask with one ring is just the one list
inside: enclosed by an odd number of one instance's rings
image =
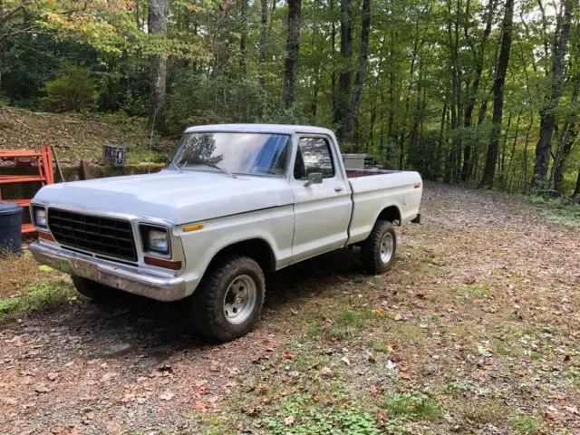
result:
[(302, 0), (288, 0), (288, 31), (286, 34), (286, 61), (282, 102), (289, 109), (294, 104), (298, 52), (300, 49), (300, 13)]

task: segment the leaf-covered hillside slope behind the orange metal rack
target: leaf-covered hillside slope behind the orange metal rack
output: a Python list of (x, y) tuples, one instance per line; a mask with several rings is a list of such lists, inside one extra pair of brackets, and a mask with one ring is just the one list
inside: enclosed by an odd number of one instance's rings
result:
[[(33, 149), (53, 145), (63, 163), (79, 160), (98, 162), (102, 145), (128, 147), (130, 163), (149, 160), (150, 131), (139, 118), (86, 118), (78, 114), (26, 111), (0, 105), (0, 150)], [(152, 160), (160, 160), (177, 145), (177, 140), (153, 140)]]

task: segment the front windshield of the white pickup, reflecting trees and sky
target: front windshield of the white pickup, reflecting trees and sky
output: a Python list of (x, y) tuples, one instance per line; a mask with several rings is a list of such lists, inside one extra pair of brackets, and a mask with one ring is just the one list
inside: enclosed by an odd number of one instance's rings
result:
[(288, 139), (288, 135), (271, 133), (186, 133), (181, 138), (172, 166), (284, 177)]

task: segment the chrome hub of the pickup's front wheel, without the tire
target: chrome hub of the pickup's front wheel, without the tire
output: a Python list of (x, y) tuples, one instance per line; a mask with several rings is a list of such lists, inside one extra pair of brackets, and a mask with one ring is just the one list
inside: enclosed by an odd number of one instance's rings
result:
[(242, 324), (254, 312), (257, 301), (256, 281), (249, 275), (236, 276), (224, 295), (224, 315), (229, 324)]

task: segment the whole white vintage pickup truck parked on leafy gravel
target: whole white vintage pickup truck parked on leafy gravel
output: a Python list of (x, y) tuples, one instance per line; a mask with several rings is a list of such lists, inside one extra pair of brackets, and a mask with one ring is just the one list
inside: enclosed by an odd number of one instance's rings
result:
[(417, 172), (344, 169), (326, 129), (192, 127), (159, 173), (40, 189), (30, 250), (96, 301), (187, 298), (199, 333), (227, 341), (256, 323), (265, 271), (356, 245), (385, 272), (421, 193)]

